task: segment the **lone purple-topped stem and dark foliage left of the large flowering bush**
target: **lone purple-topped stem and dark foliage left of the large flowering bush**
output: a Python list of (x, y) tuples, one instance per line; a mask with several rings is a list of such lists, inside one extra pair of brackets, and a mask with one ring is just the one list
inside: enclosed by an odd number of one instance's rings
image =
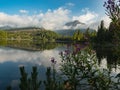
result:
[(63, 85), (60, 82), (62, 80), (59, 81), (59, 76), (57, 76), (56, 73), (56, 61), (54, 60), (54, 58), (51, 58), (51, 64), (52, 68), (48, 67), (46, 71), (46, 81), (44, 81), (45, 90), (63, 90)]

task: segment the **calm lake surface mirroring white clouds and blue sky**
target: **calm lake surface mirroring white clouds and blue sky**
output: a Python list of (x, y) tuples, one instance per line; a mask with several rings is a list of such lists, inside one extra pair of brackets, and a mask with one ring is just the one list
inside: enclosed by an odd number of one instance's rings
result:
[[(17, 90), (20, 78), (20, 66), (25, 66), (28, 73), (31, 72), (32, 66), (37, 66), (39, 77), (41, 80), (44, 80), (46, 68), (51, 66), (50, 58), (55, 57), (57, 60), (56, 69), (58, 69), (60, 63), (59, 52), (65, 49), (65, 45), (58, 45), (51, 49), (36, 50), (0, 47), (0, 90), (5, 90), (8, 85), (11, 85), (14, 90)], [(105, 58), (100, 61), (100, 66), (108, 68)], [(119, 73), (119, 68), (120, 66), (117, 64), (116, 68), (111, 67), (111, 71), (113, 74)]]

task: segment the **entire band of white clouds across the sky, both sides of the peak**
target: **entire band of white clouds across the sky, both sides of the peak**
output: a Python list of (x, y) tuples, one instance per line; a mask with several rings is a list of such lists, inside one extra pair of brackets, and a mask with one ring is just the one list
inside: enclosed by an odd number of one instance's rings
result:
[[(72, 3), (68, 3), (72, 5)], [(21, 13), (26, 13), (26, 10), (20, 10)], [(79, 20), (85, 25), (77, 25), (75, 28), (93, 28), (97, 29), (101, 20), (105, 20), (105, 25), (109, 25), (108, 17), (101, 17), (97, 13), (90, 11), (88, 8), (82, 9), (83, 14), (71, 16), (72, 11), (63, 7), (55, 10), (48, 9), (46, 12), (29, 14), (14, 14), (9, 15), (4, 12), (0, 12), (0, 26), (12, 26), (12, 27), (44, 27), (45, 29), (58, 30), (69, 29), (65, 26), (65, 23)], [(99, 19), (98, 19), (99, 18)]]

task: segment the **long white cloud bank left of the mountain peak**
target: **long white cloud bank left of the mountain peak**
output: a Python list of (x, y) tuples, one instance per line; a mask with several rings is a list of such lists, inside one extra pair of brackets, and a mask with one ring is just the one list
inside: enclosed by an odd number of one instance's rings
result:
[[(21, 10), (25, 13), (25, 10)], [(69, 20), (70, 10), (64, 8), (58, 8), (56, 10), (48, 9), (47, 12), (33, 15), (9, 15), (4, 12), (0, 12), (0, 26), (13, 26), (13, 27), (27, 27), (37, 26), (44, 27), (46, 29), (59, 29), (64, 25), (64, 22)]]

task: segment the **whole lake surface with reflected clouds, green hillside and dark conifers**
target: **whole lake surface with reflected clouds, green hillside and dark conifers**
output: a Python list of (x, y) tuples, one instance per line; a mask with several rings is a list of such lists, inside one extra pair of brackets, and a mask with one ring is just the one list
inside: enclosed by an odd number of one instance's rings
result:
[[(59, 52), (66, 49), (66, 45), (58, 43), (27, 43), (9, 42), (0, 48), (0, 90), (11, 85), (14, 89), (19, 85), (19, 67), (25, 66), (30, 74), (32, 66), (37, 66), (41, 80), (45, 79), (46, 68), (51, 66), (50, 58), (55, 57), (56, 69), (59, 68)], [(118, 49), (103, 47), (94, 48), (102, 68), (108, 68), (113, 74), (120, 72), (120, 55)], [(116, 51), (117, 50), (117, 51)]]

